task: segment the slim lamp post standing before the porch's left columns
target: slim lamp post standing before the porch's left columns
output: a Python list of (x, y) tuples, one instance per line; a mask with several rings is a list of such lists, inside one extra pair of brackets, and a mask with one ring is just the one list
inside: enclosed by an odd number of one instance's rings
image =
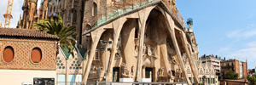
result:
[(101, 50), (105, 52), (105, 79), (106, 79), (106, 84), (107, 84), (107, 50), (110, 51), (111, 48), (107, 48), (108, 44), (112, 44), (112, 41), (103, 41), (103, 40), (100, 40), (101, 44), (105, 46), (104, 47), (101, 47)]

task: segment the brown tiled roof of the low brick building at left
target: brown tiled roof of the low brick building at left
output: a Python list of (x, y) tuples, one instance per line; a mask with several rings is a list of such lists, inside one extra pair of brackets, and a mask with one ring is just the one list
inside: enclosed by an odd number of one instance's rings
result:
[(36, 37), (36, 38), (59, 39), (59, 37), (45, 33), (44, 31), (19, 29), (19, 28), (3, 28), (3, 27), (0, 27), (0, 37)]

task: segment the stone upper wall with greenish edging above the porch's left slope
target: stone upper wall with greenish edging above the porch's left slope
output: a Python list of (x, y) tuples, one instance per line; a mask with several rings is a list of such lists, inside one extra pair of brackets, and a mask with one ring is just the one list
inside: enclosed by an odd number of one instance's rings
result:
[(113, 18), (130, 12), (135, 8), (152, 3), (152, 1), (153, 0), (119, 0), (119, 2), (113, 2), (110, 6), (107, 5), (106, 8), (100, 9), (100, 13), (97, 13), (97, 18), (93, 19), (95, 20), (93, 21), (95, 22), (94, 26), (100, 26), (108, 20), (112, 20)]

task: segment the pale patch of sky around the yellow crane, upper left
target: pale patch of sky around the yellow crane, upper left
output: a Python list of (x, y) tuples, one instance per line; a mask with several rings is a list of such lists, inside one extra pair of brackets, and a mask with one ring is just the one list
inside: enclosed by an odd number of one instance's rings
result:
[[(8, 0), (1, 0), (0, 3), (0, 23), (4, 23), (4, 17), (3, 14), (6, 13)], [(13, 19), (10, 20), (10, 27), (16, 27), (18, 21), (20, 20), (20, 14), (22, 14), (22, 4), (23, 0), (14, 0), (13, 9), (12, 9), (12, 15)]]

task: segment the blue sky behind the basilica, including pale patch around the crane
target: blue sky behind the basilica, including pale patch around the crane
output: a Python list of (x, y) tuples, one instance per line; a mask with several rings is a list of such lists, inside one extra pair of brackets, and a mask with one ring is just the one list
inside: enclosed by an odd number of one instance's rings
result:
[[(23, 0), (14, 0), (10, 27), (16, 27)], [(184, 19), (194, 19), (196, 41), (202, 54), (248, 61), (256, 66), (256, 0), (176, 0)], [(0, 23), (8, 0), (1, 0)], [(186, 21), (186, 20), (185, 20)]]

